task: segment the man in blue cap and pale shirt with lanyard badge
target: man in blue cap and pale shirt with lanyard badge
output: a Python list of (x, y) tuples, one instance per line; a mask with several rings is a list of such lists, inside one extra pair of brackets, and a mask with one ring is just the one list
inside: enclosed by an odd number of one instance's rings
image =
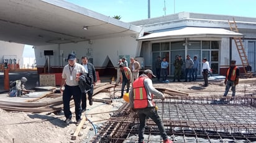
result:
[(63, 68), (62, 84), (60, 87), (60, 91), (63, 93), (63, 110), (66, 117), (65, 123), (67, 124), (70, 123), (72, 118), (70, 111), (72, 96), (75, 102), (76, 124), (81, 122), (81, 90), (78, 81), (80, 80), (80, 75), (85, 72), (85, 67), (76, 63), (76, 55), (74, 53), (68, 54), (68, 64)]

